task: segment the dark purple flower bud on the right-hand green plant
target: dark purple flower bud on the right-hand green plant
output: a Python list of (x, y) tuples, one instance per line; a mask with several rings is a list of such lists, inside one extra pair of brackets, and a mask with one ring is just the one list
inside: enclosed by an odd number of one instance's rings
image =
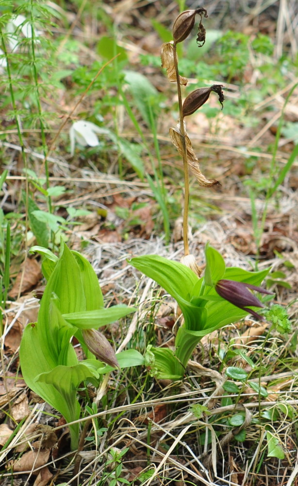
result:
[(256, 319), (262, 321), (264, 320), (262, 315), (248, 309), (247, 307), (265, 307), (265, 305), (255, 295), (249, 292), (248, 289), (256, 290), (261, 294), (273, 295), (273, 292), (262, 289), (262, 287), (256, 287), (255, 285), (250, 285), (249, 283), (236, 282), (234, 280), (218, 280), (215, 285), (217, 294), (223, 299), (228, 300), (228, 302), (231, 302), (231, 304), (239, 307), (239, 309), (252, 314)]

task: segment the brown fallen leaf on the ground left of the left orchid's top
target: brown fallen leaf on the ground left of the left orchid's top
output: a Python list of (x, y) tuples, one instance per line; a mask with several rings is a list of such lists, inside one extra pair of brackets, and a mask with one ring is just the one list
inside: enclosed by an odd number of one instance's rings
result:
[(20, 294), (24, 294), (24, 292), (32, 289), (34, 285), (37, 285), (41, 278), (42, 273), (40, 271), (40, 264), (36, 260), (27, 258), (25, 262), (21, 264), (14, 286), (8, 295), (11, 298), (15, 298), (17, 297), (19, 290)]

